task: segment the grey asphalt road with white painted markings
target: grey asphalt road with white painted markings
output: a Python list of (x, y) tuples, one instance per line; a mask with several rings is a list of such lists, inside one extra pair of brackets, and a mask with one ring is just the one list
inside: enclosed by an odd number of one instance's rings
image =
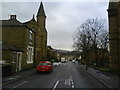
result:
[(79, 63), (70, 61), (54, 66), (52, 73), (34, 73), (32, 76), (3, 86), (3, 89), (10, 88), (105, 88), (95, 78), (82, 69)]

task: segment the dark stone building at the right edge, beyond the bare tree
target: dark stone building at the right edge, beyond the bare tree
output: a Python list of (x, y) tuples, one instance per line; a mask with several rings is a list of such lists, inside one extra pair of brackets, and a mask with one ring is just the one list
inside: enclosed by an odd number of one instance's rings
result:
[(120, 75), (120, 1), (109, 2), (110, 71)]

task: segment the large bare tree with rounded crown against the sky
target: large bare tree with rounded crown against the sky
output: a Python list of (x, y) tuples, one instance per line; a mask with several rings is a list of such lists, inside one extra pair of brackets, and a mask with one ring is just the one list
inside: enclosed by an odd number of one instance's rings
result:
[(106, 27), (104, 19), (87, 19), (77, 28), (74, 35), (74, 49), (82, 51), (86, 57), (86, 54), (89, 54), (90, 48), (94, 47), (95, 60), (97, 60), (97, 48), (107, 48), (108, 45), (108, 32)]

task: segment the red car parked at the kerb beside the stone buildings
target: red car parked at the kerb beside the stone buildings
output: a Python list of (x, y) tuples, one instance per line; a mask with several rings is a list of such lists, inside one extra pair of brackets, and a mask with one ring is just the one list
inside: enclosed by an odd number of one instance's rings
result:
[(53, 65), (50, 61), (40, 61), (39, 65), (36, 66), (36, 72), (52, 72)]

